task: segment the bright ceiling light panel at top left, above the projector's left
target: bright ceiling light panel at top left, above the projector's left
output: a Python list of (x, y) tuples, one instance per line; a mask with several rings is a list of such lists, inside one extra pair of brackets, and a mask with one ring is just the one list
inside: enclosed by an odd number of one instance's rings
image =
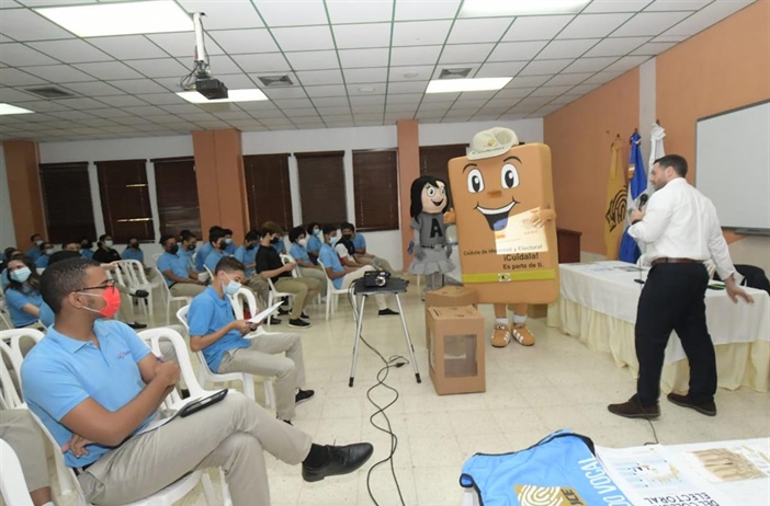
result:
[(79, 37), (193, 31), (190, 14), (168, 0), (52, 7), (35, 11)]

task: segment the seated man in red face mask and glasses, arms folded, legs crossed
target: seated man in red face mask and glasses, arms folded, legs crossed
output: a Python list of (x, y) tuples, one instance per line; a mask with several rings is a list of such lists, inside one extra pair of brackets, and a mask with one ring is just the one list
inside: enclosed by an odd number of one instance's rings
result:
[(105, 320), (120, 295), (98, 263), (58, 262), (43, 275), (41, 291), (56, 324), (24, 359), (23, 394), (76, 469), (89, 503), (132, 503), (191, 471), (222, 467), (234, 506), (269, 506), (265, 450), (302, 462), (308, 482), (353, 472), (372, 455), (369, 444), (314, 445), (233, 391), (192, 416), (135, 435), (160, 416), (179, 366), (159, 360), (124, 324)]

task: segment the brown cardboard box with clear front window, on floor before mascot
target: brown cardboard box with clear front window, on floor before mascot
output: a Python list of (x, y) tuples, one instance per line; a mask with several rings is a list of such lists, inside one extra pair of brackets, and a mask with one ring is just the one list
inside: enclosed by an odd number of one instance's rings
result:
[(428, 361), (435, 393), (486, 391), (484, 347), (484, 317), (475, 308), (428, 308)]

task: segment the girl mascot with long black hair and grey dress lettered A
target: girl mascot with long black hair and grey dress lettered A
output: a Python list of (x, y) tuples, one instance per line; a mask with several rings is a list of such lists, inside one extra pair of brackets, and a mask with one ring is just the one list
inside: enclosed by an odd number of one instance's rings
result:
[(414, 253), (410, 274), (426, 277), (426, 291), (443, 286), (444, 273), (454, 269), (450, 260), (452, 245), (446, 240), (444, 211), (449, 207), (446, 183), (423, 175), (411, 183), (410, 227), (414, 231)]

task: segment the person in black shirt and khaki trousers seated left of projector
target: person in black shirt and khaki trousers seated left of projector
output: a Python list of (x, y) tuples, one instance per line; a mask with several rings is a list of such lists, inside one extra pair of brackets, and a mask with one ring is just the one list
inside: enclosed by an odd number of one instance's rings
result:
[(295, 263), (285, 264), (281, 262), (281, 256), (271, 248), (275, 241), (283, 235), (283, 229), (272, 221), (262, 223), (261, 248), (257, 252), (257, 272), (264, 279), (272, 279), (278, 291), (285, 291), (294, 295), (294, 307), (288, 317), (288, 326), (304, 329), (310, 326), (310, 322), (305, 314), (305, 306), (308, 300), (320, 292), (320, 281), (309, 277), (292, 277), (292, 269)]

